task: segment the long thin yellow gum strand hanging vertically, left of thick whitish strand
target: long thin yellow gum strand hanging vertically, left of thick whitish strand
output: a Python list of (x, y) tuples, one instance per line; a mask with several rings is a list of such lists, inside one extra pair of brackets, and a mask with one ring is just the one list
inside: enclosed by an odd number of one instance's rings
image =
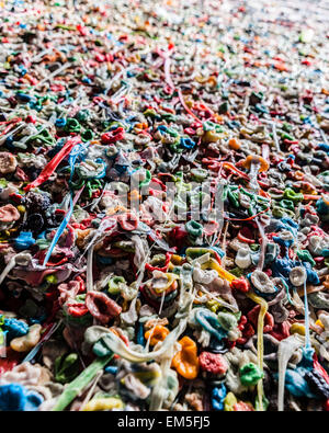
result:
[[(260, 305), (260, 311), (258, 316), (258, 323), (257, 323), (257, 358), (258, 358), (258, 366), (261, 372), (263, 372), (263, 356), (264, 356), (264, 340), (263, 340), (263, 330), (264, 330), (264, 317), (268, 311), (268, 303), (265, 299), (257, 296), (254, 293), (247, 293), (246, 294), (251, 300), (256, 304)], [(258, 401), (259, 408), (262, 412), (263, 408), (263, 380), (260, 379), (257, 384), (257, 394), (258, 394)]]

